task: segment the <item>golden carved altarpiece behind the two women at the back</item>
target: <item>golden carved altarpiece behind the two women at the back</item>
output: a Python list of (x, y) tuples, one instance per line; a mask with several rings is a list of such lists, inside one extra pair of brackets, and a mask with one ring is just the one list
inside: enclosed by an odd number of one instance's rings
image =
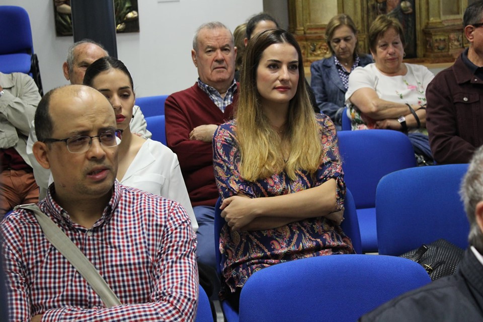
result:
[(468, 0), (288, 0), (290, 31), (299, 42), (304, 65), (330, 55), (324, 33), (329, 20), (346, 13), (354, 20), (361, 51), (369, 52), (367, 33), (381, 6), (399, 6), (413, 13), (415, 24), (415, 63), (453, 62), (467, 46), (462, 17)]

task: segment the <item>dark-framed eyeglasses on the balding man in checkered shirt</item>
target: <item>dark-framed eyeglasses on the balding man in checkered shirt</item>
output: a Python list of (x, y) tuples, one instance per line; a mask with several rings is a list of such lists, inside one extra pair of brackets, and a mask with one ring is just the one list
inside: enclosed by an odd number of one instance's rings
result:
[(65, 142), (67, 145), (67, 150), (71, 153), (82, 153), (89, 150), (91, 147), (92, 139), (97, 137), (99, 142), (104, 147), (113, 147), (121, 142), (123, 130), (109, 130), (102, 132), (99, 135), (89, 136), (89, 135), (76, 135), (67, 137), (65, 139), (52, 139), (47, 138), (42, 140), (44, 143), (50, 142)]

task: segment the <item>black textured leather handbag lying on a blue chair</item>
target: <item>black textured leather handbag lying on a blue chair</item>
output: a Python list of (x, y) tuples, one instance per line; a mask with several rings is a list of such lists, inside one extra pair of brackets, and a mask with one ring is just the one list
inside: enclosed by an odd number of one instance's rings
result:
[(434, 281), (443, 276), (453, 275), (463, 254), (463, 249), (445, 239), (438, 239), (399, 257), (408, 258), (423, 266)]

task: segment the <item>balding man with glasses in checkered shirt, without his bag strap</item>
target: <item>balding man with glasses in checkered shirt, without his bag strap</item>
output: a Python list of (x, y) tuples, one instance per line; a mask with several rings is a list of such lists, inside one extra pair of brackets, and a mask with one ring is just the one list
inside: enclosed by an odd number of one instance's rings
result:
[(116, 181), (114, 110), (97, 90), (70, 85), (40, 101), (33, 152), (54, 183), (39, 207), (86, 255), (122, 305), (107, 308), (46, 239), (31, 211), (1, 224), (9, 312), (17, 320), (192, 321), (196, 237), (177, 202)]

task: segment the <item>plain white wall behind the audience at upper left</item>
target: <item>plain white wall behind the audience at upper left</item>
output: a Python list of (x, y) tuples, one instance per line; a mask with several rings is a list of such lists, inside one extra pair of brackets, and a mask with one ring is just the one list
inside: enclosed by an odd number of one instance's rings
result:
[[(67, 84), (62, 74), (73, 37), (57, 37), (53, 0), (0, 0), (21, 6), (32, 25), (44, 93)], [(263, 10), (262, 0), (138, 0), (139, 33), (117, 35), (118, 58), (132, 74), (138, 97), (171, 94), (192, 86), (197, 71), (191, 60), (193, 34), (202, 23), (218, 20), (230, 30)]]

